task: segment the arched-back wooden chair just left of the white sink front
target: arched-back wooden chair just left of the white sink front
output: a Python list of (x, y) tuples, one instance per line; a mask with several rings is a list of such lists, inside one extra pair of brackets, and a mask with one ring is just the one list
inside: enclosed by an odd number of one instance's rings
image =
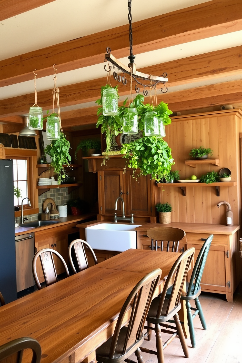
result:
[(95, 265), (97, 265), (97, 263), (98, 263), (93, 249), (91, 248), (91, 246), (86, 241), (74, 240), (74, 241), (71, 242), (71, 244), (70, 244), (70, 246), (68, 248), (69, 261), (70, 261), (70, 265), (71, 265), (71, 268), (72, 268), (74, 273), (77, 273), (77, 270), (75, 269), (73, 259), (71, 257), (72, 247), (73, 247), (73, 250), (74, 250), (75, 259), (77, 261), (78, 272), (80, 272), (82, 270), (85, 270), (85, 269), (87, 269), (89, 267), (84, 246), (86, 246), (90, 250), (90, 252), (91, 252), (91, 254), (93, 256)]

